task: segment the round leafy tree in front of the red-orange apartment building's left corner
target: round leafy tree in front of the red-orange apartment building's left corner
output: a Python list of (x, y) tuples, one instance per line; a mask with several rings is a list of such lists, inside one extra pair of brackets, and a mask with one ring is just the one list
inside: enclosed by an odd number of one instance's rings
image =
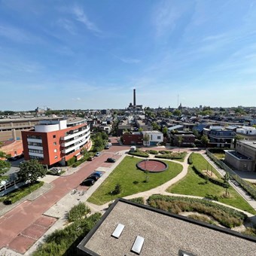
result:
[(44, 166), (38, 162), (36, 159), (32, 159), (20, 164), (20, 172), (18, 172), (18, 177), (22, 181), (30, 181), (34, 183), (37, 179), (43, 178), (46, 174)]

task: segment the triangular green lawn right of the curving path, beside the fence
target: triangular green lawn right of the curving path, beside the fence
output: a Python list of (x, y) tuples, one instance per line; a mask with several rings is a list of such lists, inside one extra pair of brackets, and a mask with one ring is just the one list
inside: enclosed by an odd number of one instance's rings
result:
[(256, 211), (233, 189), (228, 189), (230, 193), (229, 198), (222, 197), (225, 194), (224, 187), (213, 184), (212, 182), (205, 183), (205, 179), (200, 178), (194, 170), (189, 167), (186, 177), (181, 181), (173, 184), (167, 189), (168, 192), (174, 194), (192, 195), (197, 197), (218, 197), (218, 201), (225, 203), (229, 206), (242, 209), (251, 214), (255, 214)]

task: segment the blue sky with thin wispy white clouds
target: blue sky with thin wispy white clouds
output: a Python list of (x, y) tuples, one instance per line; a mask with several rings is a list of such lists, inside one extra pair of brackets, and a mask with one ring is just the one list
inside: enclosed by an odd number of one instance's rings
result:
[(255, 106), (256, 1), (0, 0), (0, 110)]

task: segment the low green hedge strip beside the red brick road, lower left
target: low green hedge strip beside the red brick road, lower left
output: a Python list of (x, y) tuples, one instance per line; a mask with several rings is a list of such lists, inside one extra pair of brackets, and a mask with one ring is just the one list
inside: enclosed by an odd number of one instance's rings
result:
[(31, 184), (31, 185), (26, 184), (23, 187), (20, 187), (17, 190), (14, 190), (14, 192), (11, 192), (10, 194), (8, 194), (8, 196), (5, 197), (4, 203), (6, 205), (11, 205), (12, 203), (15, 203), (21, 200), (23, 197), (26, 197), (31, 192), (37, 190), (43, 184), (44, 184), (44, 181), (36, 181), (35, 184)]

